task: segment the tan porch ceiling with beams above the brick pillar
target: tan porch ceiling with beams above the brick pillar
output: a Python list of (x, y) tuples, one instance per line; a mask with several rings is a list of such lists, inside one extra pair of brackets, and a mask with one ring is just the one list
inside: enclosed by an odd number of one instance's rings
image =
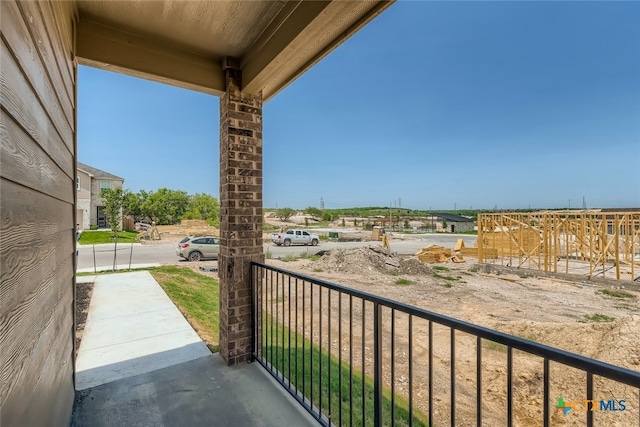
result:
[(224, 68), (268, 100), (392, 1), (79, 0), (79, 63), (220, 95)]

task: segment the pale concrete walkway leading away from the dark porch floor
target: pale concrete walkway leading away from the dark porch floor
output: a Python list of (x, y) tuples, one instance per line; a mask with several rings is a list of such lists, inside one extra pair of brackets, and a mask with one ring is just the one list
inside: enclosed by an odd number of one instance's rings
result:
[(209, 356), (148, 271), (95, 277), (76, 390)]

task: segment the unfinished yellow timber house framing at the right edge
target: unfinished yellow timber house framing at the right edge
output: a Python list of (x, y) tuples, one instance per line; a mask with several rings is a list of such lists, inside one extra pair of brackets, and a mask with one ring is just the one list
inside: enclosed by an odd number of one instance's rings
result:
[(549, 273), (640, 280), (640, 212), (533, 212), (478, 216), (478, 242), (463, 254)]

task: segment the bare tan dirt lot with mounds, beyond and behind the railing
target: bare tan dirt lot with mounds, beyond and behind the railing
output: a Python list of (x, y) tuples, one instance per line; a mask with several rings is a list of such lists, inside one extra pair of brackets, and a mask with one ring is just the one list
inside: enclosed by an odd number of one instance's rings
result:
[[(385, 257), (377, 250), (367, 248), (333, 251), (316, 261), (268, 260), (267, 263), (631, 370), (640, 370), (640, 294), (633, 290), (537, 277), (533, 272), (529, 272), (529, 275), (490, 274), (478, 267), (473, 259), (460, 264), (423, 264), (415, 257)], [(407, 282), (409, 284), (397, 284)], [(608, 291), (609, 294), (606, 293)], [(337, 307), (335, 301), (332, 304)], [(333, 313), (337, 313), (336, 307)], [(354, 316), (358, 315), (357, 311), (354, 312)], [(322, 321), (328, 322), (325, 319)], [(338, 322), (328, 324), (331, 324), (332, 334), (336, 337)], [(427, 328), (426, 322), (416, 322), (413, 329), (416, 359), (414, 393), (418, 396), (416, 404), (422, 410), (426, 410), (427, 401), (424, 398), (427, 396)], [(403, 327), (395, 330), (398, 343), (408, 342), (406, 330)], [(305, 332), (309, 337), (308, 331), (300, 332)], [(441, 425), (449, 425), (450, 330), (434, 326), (433, 332), (436, 366), (433, 418)], [(368, 338), (365, 337), (365, 346), (367, 342)], [(402, 344), (398, 347), (402, 347)], [(331, 348), (334, 355), (340, 351), (335, 342), (331, 343)], [(342, 352), (346, 356), (345, 348), (342, 348)], [(386, 355), (389, 356), (388, 353)], [(504, 424), (506, 357), (504, 346), (490, 342), (483, 346), (483, 411), (487, 425)], [(388, 363), (390, 357), (386, 359)], [(406, 362), (406, 354), (396, 350), (396, 364), (398, 360)], [(361, 366), (357, 356), (354, 363)], [(366, 356), (365, 369), (371, 369), (371, 363), (371, 358)], [(539, 358), (514, 352), (514, 414), (517, 425), (542, 425), (541, 364)], [(585, 398), (584, 374), (554, 364), (551, 374), (552, 399)], [(475, 375), (475, 340), (458, 333), (456, 425), (475, 425)], [(390, 387), (391, 377), (388, 373), (385, 377)], [(396, 372), (394, 387), (397, 391), (406, 392), (406, 373), (401, 369), (399, 373)], [(596, 380), (594, 398), (608, 400), (625, 397), (627, 410), (617, 414), (597, 413), (595, 419), (599, 425), (636, 425), (638, 391)], [(564, 416), (556, 411), (553, 412), (552, 421), (553, 425), (583, 425), (585, 422), (583, 416)]]

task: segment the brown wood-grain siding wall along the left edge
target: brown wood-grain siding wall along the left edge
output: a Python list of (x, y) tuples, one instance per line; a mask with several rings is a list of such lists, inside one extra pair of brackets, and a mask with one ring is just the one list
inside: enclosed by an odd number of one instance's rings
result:
[(0, 1), (0, 425), (73, 408), (76, 67), (67, 2)]

